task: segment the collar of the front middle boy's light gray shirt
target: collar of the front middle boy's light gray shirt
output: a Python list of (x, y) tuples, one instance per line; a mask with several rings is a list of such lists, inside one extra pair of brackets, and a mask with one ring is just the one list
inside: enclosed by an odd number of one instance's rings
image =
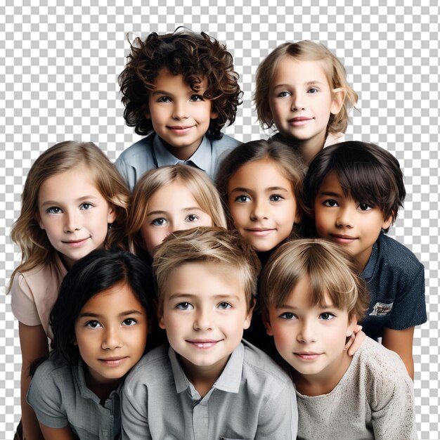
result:
[[(193, 389), (193, 385), (190, 383), (177, 358), (176, 351), (169, 347), (168, 356), (171, 362), (171, 368), (174, 375), (174, 382), (176, 382), (176, 392), (181, 393), (190, 388), (190, 392)], [(243, 362), (245, 360), (245, 347), (243, 344), (239, 344), (238, 347), (232, 352), (228, 363), (221, 375), (216, 380), (212, 388), (219, 389), (224, 392), (238, 393), (240, 389)], [(191, 392), (193, 394), (193, 392)], [(210, 394), (210, 393), (209, 393)], [(200, 396), (199, 396), (200, 399)]]

